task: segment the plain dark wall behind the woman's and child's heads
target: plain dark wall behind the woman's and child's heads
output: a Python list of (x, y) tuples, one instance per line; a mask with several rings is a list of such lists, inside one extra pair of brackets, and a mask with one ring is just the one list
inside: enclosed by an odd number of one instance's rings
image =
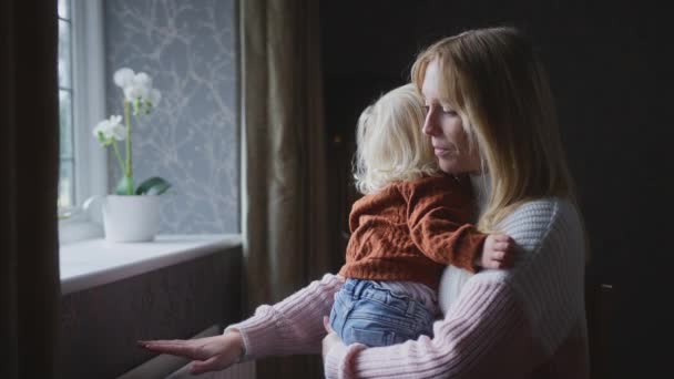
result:
[[(665, 148), (673, 136), (665, 100), (672, 96), (662, 76), (672, 42), (661, 14), (645, 2), (324, 1), (326, 122), (331, 170), (340, 173), (331, 191), (353, 196), (339, 184), (349, 178), (356, 117), (409, 79), (417, 52), (466, 29), (520, 28), (551, 76), (591, 240), (589, 277), (614, 286), (614, 375), (643, 375), (655, 367), (647, 339), (667, 318), (657, 290), (664, 276), (655, 272), (672, 252), (664, 212), (672, 173)], [(349, 205), (333, 209), (341, 228)]]

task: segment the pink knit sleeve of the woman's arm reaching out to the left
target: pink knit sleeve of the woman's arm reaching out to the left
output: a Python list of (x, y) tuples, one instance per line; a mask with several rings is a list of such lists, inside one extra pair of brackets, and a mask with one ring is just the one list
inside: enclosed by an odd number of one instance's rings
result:
[(263, 305), (255, 315), (227, 327), (238, 330), (244, 340), (244, 359), (292, 354), (318, 354), (326, 331), (323, 317), (329, 316), (335, 293), (344, 278), (326, 274), (321, 280), (273, 306)]

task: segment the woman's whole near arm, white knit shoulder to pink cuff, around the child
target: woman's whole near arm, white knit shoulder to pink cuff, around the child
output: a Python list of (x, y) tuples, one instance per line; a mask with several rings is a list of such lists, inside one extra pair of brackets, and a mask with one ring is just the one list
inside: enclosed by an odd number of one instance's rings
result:
[[(371, 349), (336, 344), (325, 357), (326, 376), (525, 378), (559, 358), (560, 346), (584, 325), (584, 244), (578, 213), (565, 201), (530, 202), (501, 226), (520, 248), (515, 267), (469, 279), (446, 318), (433, 326), (432, 339)], [(584, 361), (583, 344), (579, 339), (580, 348), (565, 361)], [(568, 368), (578, 373), (573, 377), (586, 377), (586, 366), (574, 365)]]

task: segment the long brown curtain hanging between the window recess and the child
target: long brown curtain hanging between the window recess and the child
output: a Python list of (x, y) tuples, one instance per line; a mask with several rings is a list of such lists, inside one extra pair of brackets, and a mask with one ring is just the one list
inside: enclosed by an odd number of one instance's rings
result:
[[(318, 1), (241, 2), (243, 234), (249, 313), (329, 267)], [(269, 358), (259, 378), (317, 378), (320, 357)]]

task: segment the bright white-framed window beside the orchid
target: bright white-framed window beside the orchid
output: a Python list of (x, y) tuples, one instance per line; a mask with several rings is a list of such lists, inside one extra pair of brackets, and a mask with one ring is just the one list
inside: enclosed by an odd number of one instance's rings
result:
[(88, 223), (82, 203), (105, 193), (106, 157), (91, 131), (105, 114), (101, 0), (59, 0), (59, 233)]

